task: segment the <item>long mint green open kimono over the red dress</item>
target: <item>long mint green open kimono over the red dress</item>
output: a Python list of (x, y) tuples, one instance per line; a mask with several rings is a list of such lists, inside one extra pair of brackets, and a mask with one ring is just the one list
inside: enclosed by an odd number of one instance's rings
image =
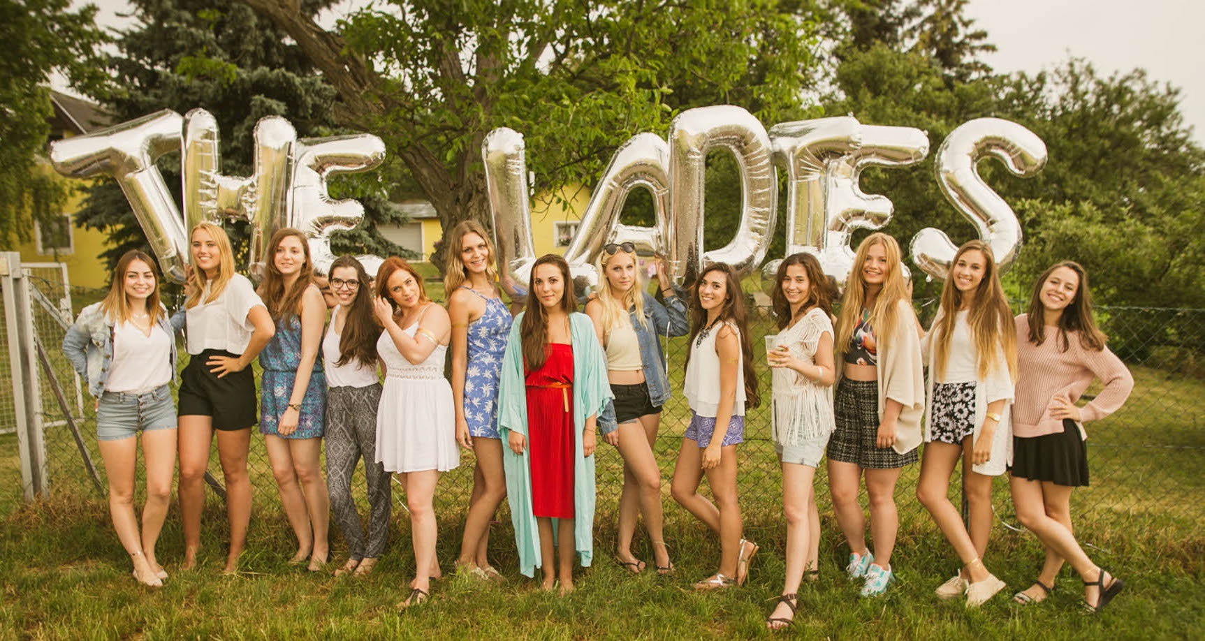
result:
[[(574, 539), (577, 558), (583, 568), (588, 568), (594, 557), (594, 457), (582, 455), (582, 430), (587, 418), (602, 413), (612, 395), (606, 378), (606, 355), (590, 318), (575, 312), (569, 317), (569, 324), (574, 346), (574, 452), (577, 454), (574, 461)], [(531, 513), (529, 449), (516, 454), (506, 442), (511, 431), (524, 437), (528, 435), (527, 383), (519, 336), (522, 325), (523, 313), (519, 313), (511, 324), (498, 383), (498, 435), (502, 440), (502, 470), (506, 474), (515, 543), (519, 552), (519, 572), (534, 577), (535, 569), (540, 568), (540, 533)]]

